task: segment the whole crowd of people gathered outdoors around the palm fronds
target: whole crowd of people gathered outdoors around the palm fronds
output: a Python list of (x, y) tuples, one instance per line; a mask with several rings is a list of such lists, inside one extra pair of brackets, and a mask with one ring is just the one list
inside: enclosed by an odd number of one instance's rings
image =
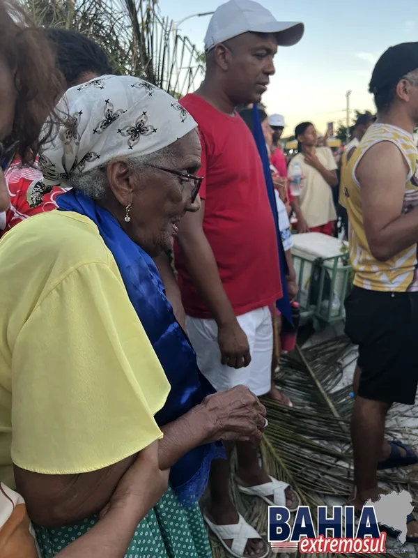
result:
[(292, 406), (273, 354), (292, 233), (334, 234), (337, 214), (356, 272), (352, 502), (376, 499), (378, 468), (418, 461), (384, 441), (418, 381), (417, 43), (378, 61), (377, 121), (359, 116), (341, 165), (311, 122), (288, 164), (284, 116), (258, 104), (302, 23), (222, 4), (179, 103), (13, 0), (0, 27), (1, 557), (209, 558), (206, 526), (235, 558), (268, 555), (231, 498), (231, 455), (242, 493), (301, 504), (265, 470), (258, 398)]

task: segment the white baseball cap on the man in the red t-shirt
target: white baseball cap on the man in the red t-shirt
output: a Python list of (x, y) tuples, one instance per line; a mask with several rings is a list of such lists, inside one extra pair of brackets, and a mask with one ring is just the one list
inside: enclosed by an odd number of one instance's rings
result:
[(219, 6), (210, 18), (205, 36), (205, 50), (238, 37), (247, 31), (254, 33), (277, 33), (280, 47), (291, 47), (299, 43), (304, 33), (304, 24), (278, 22), (272, 13), (252, 0), (229, 0)]

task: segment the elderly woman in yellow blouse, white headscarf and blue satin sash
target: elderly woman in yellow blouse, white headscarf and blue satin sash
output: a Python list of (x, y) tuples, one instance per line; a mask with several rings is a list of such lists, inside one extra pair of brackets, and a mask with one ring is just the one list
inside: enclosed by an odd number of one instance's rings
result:
[(210, 557), (197, 506), (210, 462), (221, 439), (260, 439), (265, 409), (242, 386), (212, 395), (152, 260), (199, 209), (196, 123), (134, 77), (74, 87), (58, 108), (70, 116), (40, 166), (47, 186), (72, 190), (0, 244), (0, 412), (17, 488), (53, 557), (158, 439), (169, 488), (127, 556)]

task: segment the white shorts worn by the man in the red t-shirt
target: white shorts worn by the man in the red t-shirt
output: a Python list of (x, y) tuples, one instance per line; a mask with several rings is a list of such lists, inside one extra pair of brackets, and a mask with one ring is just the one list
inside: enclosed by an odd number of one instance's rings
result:
[(244, 385), (254, 395), (270, 391), (273, 354), (272, 316), (268, 306), (238, 316), (238, 323), (248, 338), (251, 363), (247, 368), (231, 368), (221, 363), (214, 319), (186, 316), (186, 329), (197, 354), (197, 363), (217, 391)]

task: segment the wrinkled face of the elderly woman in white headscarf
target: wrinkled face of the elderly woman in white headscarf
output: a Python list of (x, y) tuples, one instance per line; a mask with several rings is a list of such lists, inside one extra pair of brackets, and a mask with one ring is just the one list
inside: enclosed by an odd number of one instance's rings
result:
[[(196, 130), (177, 140), (172, 147), (171, 157), (156, 159), (153, 165), (196, 174), (201, 167), (201, 144)], [(198, 211), (201, 206), (199, 196), (194, 204), (191, 203), (194, 181), (154, 167), (145, 172), (127, 169), (131, 192), (121, 197), (117, 180), (109, 167), (109, 186), (121, 204), (116, 217), (127, 235), (152, 257), (170, 250), (181, 218), (187, 211)], [(129, 223), (124, 219), (127, 204), (132, 205)]]

